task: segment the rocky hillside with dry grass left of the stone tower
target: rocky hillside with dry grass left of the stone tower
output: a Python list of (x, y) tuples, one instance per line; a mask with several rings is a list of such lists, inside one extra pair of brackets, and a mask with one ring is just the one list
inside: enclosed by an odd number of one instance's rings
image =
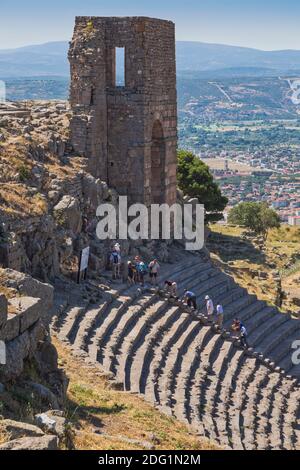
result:
[(69, 117), (63, 102), (0, 110), (0, 263), (44, 281), (74, 270), (88, 239), (83, 217), (91, 225), (113, 198), (72, 153)]

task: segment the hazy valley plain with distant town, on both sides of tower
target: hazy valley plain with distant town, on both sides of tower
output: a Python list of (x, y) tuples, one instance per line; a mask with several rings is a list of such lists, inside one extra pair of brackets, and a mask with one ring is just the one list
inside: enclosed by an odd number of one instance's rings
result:
[[(68, 77), (6, 80), (8, 98), (67, 99)], [(300, 225), (300, 107), (280, 77), (178, 76), (179, 146), (210, 167), (229, 199), (266, 201)], [(225, 214), (226, 217), (226, 214)]]

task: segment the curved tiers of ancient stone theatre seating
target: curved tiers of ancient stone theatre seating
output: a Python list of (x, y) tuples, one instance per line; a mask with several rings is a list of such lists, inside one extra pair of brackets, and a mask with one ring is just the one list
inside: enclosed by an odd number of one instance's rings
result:
[(254, 353), (159, 293), (124, 284), (92, 304), (80, 289), (59, 292), (53, 328), (74, 354), (112, 372), (124, 390), (143, 394), (222, 447), (300, 448), (300, 369), (291, 362), (300, 322), (198, 255), (165, 265), (161, 278), (167, 277), (180, 294), (185, 287), (197, 294), (200, 312), (207, 294), (222, 302), (225, 328), (241, 318)]

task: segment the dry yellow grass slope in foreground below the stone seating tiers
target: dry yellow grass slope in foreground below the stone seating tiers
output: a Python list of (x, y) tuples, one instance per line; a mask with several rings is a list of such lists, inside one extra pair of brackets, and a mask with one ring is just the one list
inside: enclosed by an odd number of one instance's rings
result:
[[(157, 449), (201, 450), (217, 446), (199, 439), (183, 424), (147, 404), (141, 397), (110, 390), (108, 380), (99, 370), (72, 356), (68, 346), (53, 339), (60, 365), (69, 379), (68, 414), (77, 427), (75, 447), (92, 449), (142, 449), (122, 439), (148, 441), (150, 434), (159, 439)], [(113, 436), (105, 438), (97, 432)], [(121, 439), (120, 439), (121, 436)]]

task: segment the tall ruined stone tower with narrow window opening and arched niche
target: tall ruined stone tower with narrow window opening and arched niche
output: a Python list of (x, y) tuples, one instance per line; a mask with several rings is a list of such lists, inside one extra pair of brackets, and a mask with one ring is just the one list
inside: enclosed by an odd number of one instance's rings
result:
[(175, 202), (174, 24), (77, 17), (69, 60), (71, 139), (90, 172), (131, 202)]

